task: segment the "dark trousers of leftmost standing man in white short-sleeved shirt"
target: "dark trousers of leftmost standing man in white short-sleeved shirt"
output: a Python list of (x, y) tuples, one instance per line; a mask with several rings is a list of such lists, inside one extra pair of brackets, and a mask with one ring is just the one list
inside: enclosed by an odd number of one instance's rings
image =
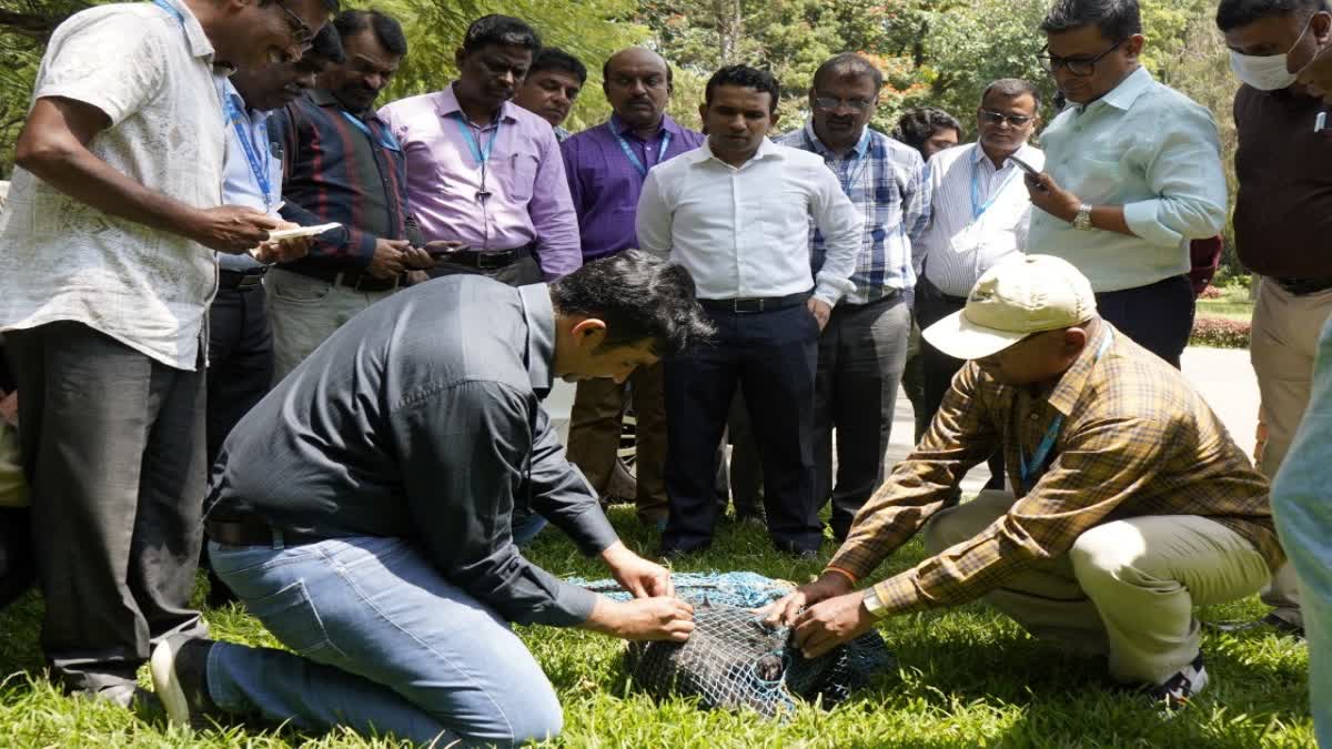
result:
[(5, 353), (20, 392), (47, 660), (72, 689), (133, 682), (152, 644), (206, 632), (189, 608), (204, 376), (79, 323), (9, 331)]

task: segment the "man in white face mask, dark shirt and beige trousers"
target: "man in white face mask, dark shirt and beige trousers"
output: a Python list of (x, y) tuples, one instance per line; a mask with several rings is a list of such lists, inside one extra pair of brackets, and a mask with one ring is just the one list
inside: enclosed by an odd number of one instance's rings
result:
[[(1275, 477), (1309, 402), (1319, 331), (1332, 315), (1332, 131), (1324, 104), (1299, 71), (1332, 36), (1325, 0), (1224, 0), (1216, 25), (1243, 85), (1235, 95), (1235, 249), (1263, 277), (1249, 356), (1268, 440), (1263, 473)], [(1297, 585), (1287, 566), (1273, 578), (1264, 621), (1301, 632)]]

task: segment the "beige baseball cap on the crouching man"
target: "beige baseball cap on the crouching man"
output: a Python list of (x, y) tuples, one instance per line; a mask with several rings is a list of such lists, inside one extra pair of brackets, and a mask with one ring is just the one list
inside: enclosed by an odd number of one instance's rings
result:
[(1091, 281), (1071, 263), (1051, 255), (1016, 255), (980, 276), (962, 312), (922, 335), (951, 357), (983, 359), (1032, 333), (1068, 328), (1095, 315)]

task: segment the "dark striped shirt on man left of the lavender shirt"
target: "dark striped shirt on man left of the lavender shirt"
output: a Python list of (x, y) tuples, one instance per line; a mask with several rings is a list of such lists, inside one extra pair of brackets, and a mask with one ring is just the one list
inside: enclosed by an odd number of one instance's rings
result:
[(408, 239), (402, 148), (373, 112), (353, 117), (332, 93), (316, 89), (268, 120), (285, 169), (282, 217), (302, 227), (345, 227), (320, 235), (306, 257), (282, 265), (288, 271), (362, 269), (377, 240)]

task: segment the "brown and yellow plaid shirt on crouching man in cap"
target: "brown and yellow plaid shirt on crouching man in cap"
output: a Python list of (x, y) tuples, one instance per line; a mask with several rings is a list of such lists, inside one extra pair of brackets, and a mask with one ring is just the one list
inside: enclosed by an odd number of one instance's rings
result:
[[(1064, 422), (1048, 468), (1026, 490), (1016, 466), (1058, 414)], [(1128, 517), (1209, 517), (1252, 542), (1272, 569), (1284, 558), (1267, 478), (1183, 374), (1102, 321), (1047, 394), (1002, 385), (967, 363), (920, 445), (860, 509), (829, 569), (852, 580), (872, 573), (931, 514), (955, 505), (962, 477), (1000, 445), (1018, 488), (1012, 509), (970, 541), (879, 582), (888, 613), (979, 598), (1027, 565), (1067, 553), (1088, 529)]]

